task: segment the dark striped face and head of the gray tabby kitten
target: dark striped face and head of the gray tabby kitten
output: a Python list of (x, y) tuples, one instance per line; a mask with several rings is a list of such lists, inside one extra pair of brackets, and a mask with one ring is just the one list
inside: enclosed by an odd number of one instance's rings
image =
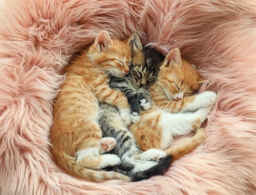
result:
[(136, 86), (147, 89), (155, 83), (164, 55), (150, 47), (144, 47), (137, 53), (141, 54), (142, 58), (133, 57), (129, 75)]

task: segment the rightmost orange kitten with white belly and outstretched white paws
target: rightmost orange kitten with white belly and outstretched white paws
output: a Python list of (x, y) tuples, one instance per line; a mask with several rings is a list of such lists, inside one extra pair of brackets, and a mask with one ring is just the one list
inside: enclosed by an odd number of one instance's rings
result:
[[(181, 58), (179, 49), (168, 53), (155, 84), (149, 87), (152, 107), (143, 110), (140, 121), (129, 127), (140, 148), (165, 150), (175, 160), (202, 142), (205, 132), (200, 126), (216, 100), (215, 92), (194, 95), (202, 82), (197, 70)], [(192, 130), (197, 130), (194, 136), (177, 148), (167, 149), (173, 137)]]

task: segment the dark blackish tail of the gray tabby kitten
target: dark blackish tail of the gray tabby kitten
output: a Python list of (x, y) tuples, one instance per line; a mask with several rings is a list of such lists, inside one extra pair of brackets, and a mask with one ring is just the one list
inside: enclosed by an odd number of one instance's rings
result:
[(158, 162), (158, 164), (156, 164), (155, 166), (152, 166), (149, 169), (146, 169), (144, 171), (127, 172), (122, 169), (119, 169), (118, 167), (114, 170), (116, 172), (122, 173), (123, 175), (127, 175), (129, 178), (131, 178), (131, 181), (141, 181), (143, 179), (147, 179), (147, 178), (150, 178), (155, 175), (163, 174), (168, 169), (171, 162), (172, 162), (172, 156), (166, 155)]

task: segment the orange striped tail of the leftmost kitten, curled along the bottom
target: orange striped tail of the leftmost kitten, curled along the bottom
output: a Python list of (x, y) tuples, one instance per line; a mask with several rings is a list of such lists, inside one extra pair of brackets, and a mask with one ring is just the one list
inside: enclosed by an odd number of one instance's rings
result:
[(75, 158), (71, 157), (66, 153), (64, 155), (62, 154), (62, 157), (61, 158), (59, 157), (58, 161), (59, 162), (56, 162), (56, 163), (62, 163), (62, 169), (65, 169), (65, 171), (68, 174), (73, 175), (77, 178), (82, 178), (86, 181), (101, 182), (101, 181), (108, 181), (111, 179), (119, 179), (123, 181), (132, 180), (128, 176), (122, 175), (119, 172), (112, 172), (112, 171), (109, 172), (109, 171), (103, 171), (103, 170), (88, 169), (82, 166), (78, 166)]

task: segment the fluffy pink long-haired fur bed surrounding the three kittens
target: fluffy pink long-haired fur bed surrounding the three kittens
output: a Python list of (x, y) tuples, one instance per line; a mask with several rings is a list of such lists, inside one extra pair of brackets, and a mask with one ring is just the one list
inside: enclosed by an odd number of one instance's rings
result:
[[(256, 193), (256, 1), (6, 0), (0, 10), (2, 195)], [(53, 163), (62, 70), (102, 29), (117, 38), (137, 31), (164, 54), (179, 47), (218, 93), (206, 141), (164, 175), (98, 184)]]

